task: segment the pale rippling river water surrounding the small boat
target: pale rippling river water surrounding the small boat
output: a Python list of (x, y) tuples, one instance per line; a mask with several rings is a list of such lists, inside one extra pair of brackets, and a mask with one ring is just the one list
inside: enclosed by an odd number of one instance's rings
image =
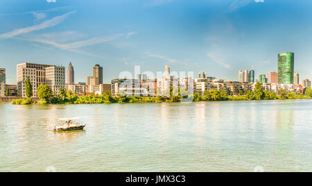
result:
[[(312, 100), (0, 103), (0, 171), (312, 171)], [(55, 133), (79, 117), (85, 130)]]

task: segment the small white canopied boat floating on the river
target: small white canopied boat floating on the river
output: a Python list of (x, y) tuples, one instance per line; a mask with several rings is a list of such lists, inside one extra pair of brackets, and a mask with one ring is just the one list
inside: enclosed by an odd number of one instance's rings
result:
[(55, 125), (55, 131), (83, 130), (85, 124), (79, 124), (78, 118), (62, 118), (58, 119), (58, 124)]

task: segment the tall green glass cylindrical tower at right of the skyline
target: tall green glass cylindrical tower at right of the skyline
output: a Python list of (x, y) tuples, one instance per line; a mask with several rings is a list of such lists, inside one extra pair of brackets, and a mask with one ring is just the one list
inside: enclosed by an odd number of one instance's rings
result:
[(292, 52), (282, 52), (278, 55), (278, 83), (293, 84), (294, 56)]

